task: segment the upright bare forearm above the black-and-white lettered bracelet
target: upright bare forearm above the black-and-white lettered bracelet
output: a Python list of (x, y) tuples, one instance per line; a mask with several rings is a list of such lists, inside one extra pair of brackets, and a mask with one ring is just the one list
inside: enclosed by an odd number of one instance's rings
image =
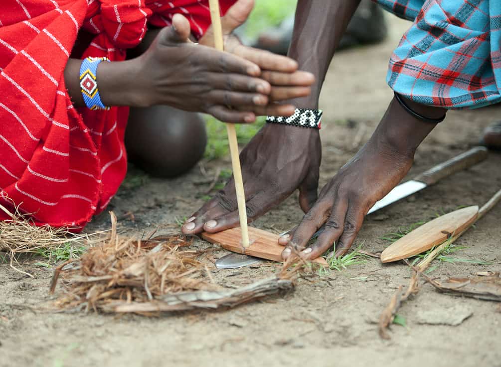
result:
[(299, 70), (313, 73), (316, 82), (310, 96), (291, 101), (297, 107), (318, 108), (334, 51), (359, 3), (360, 0), (299, 0), (288, 56), (298, 61)]

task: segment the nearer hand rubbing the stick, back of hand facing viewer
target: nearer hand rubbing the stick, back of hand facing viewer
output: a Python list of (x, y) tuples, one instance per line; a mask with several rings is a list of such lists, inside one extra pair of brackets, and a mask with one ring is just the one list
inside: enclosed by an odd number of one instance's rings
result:
[[(169, 105), (205, 112), (219, 120), (250, 123), (254, 110), (266, 106), (270, 84), (260, 68), (243, 58), (188, 41), (188, 21), (181, 15), (162, 29), (134, 62), (134, 106)], [(233, 109), (231, 109), (231, 108)]]

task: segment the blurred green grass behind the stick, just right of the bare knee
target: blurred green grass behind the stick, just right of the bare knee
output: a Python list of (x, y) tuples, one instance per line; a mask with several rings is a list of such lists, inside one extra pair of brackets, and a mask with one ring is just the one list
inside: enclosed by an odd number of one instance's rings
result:
[[(205, 116), (205, 126), (207, 129), (207, 147), (205, 148), (205, 158), (208, 160), (219, 159), (229, 156), (228, 137), (226, 126), (212, 116)], [(265, 125), (266, 117), (258, 117), (254, 124), (236, 124), (236, 138), (239, 144), (247, 144), (250, 139)], [(222, 172), (222, 171), (221, 171)], [(229, 173), (231, 176), (231, 171)], [(229, 177), (228, 176), (228, 177)]]

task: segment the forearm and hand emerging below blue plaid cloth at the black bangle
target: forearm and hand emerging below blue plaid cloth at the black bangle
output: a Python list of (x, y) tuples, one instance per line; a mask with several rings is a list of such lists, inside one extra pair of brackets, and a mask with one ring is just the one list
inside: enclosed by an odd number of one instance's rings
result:
[[(444, 114), (442, 109), (408, 104), (423, 116), (437, 118)], [(404, 178), (414, 152), (434, 127), (412, 117), (393, 100), (367, 144), (325, 185), (301, 224), (279, 239), (279, 244), (287, 245), (282, 257), (287, 259), (293, 252), (302, 251), (302, 256), (314, 259), (334, 243), (335, 256), (345, 254), (369, 209)], [(305, 249), (323, 224), (324, 232)]]

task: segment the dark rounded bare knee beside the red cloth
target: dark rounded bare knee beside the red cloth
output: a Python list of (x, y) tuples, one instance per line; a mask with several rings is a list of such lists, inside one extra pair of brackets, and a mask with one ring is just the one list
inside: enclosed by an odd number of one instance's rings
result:
[(125, 133), (129, 160), (153, 176), (189, 171), (207, 144), (200, 115), (167, 106), (131, 108)]

